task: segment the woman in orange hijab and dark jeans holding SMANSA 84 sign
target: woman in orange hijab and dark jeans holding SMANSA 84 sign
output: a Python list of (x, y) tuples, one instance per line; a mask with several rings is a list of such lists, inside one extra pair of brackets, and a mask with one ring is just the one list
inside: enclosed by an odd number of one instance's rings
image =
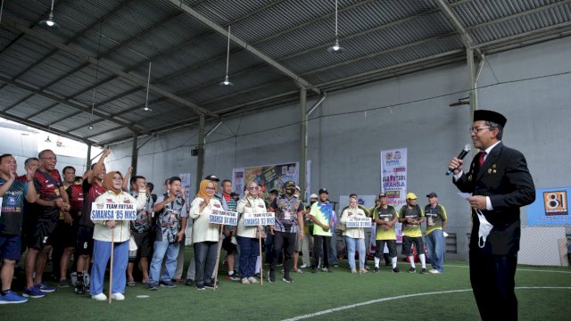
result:
[(218, 251), (219, 226), (209, 223), (212, 210), (224, 210), (222, 204), (214, 197), (216, 182), (204, 179), (196, 198), (190, 205), (190, 218), (193, 224), (194, 263), (196, 275), (194, 282), (197, 290), (204, 287), (214, 288), (214, 267)]

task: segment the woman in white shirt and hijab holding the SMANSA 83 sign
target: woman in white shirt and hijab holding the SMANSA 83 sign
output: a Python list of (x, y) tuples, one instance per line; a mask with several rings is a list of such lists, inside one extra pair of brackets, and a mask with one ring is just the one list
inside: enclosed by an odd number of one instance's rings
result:
[(265, 213), (266, 202), (260, 197), (260, 187), (256, 182), (246, 185), (244, 198), (238, 201), (236, 211), (240, 214), (238, 221), (238, 244), (240, 244), (240, 275), (242, 284), (256, 284), (256, 261), (260, 255), (260, 244), (256, 237), (256, 231), (261, 231), (262, 226), (245, 226), (244, 214)]

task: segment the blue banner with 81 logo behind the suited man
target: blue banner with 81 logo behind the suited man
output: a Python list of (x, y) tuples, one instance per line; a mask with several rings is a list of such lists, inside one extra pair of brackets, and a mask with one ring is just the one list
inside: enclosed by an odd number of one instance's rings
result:
[(571, 224), (569, 195), (571, 195), (571, 187), (535, 190), (535, 202), (525, 208), (527, 226)]

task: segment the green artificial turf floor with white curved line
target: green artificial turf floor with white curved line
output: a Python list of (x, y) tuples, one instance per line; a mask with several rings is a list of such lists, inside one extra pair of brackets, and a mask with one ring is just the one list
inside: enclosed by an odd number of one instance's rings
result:
[[(192, 251), (186, 249), (186, 264)], [(369, 300), (422, 294), (384, 300), (343, 309), (312, 319), (317, 320), (478, 320), (476, 302), (470, 290), (468, 263), (447, 261), (443, 275), (407, 273), (407, 263), (399, 263), (401, 273), (390, 268), (363, 275), (351, 274), (347, 262), (333, 273), (292, 273), (293, 284), (281, 281), (243, 285), (225, 279), (227, 267), (221, 267), (220, 286), (216, 291), (196, 291), (178, 284), (177, 288), (146, 290), (144, 284), (128, 287), (126, 300), (91, 300), (71, 288), (58, 289), (44, 299), (30, 299), (18, 305), (0, 306), (2, 320), (280, 320), (327, 309), (335, 309)], [(369, 261), (369, 265), (371, 262)], [(264, 266), (267, 269), (267, 266)], [(417, 265), (417, 271), (420, 267)], [(547, 270), (541, 272), (538, 270)], [(553, 286), (567, 289), (518, 289), (520, 320), (568, 320), (571, 316), (571, 270), (569, 268), (520, 267), (517, 287)], [(20, 290), (20, 289), (16, 289)], [(147, 295), (148, 298), (137, 298)]]

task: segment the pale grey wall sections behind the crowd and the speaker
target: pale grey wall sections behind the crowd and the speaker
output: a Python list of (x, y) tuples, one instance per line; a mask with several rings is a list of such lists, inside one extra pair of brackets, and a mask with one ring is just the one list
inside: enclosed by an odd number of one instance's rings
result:
[[(570, 176), (562, 175), (570, 156), (568, 53), (571, 37), (493, 54), (478, 82), (479, 108), (508, 118), (503, 141), (525, 154), (536, 187), (571, 185)], [(466, 259), (469, 209), (443, 173), (470, 143), (468, 105), (448, 106), (468, 96), (467, 89), (467, 67), (456, 63), (330, 93), (309, 122), (312, 192), (325, 186), (332, 200), (378, 193), (380, 151), (408, 147), (409, 191), (440, 195), (449, 213), (448, 232), (458, 234), (459, 254), (449, 258)], [(224, 119), (208, 137), (203, 173), (226, 178), (236, 167), (299, 161), (299, 108), (295, 103)], [(194, 176), (190, 149), (196, 139), (196, 128), (157, 136), (139, 152), (138, 173), (156, 182), (181, 171)], [(114, 146), (109, 168), (127, 169), (130, 152), (129, 143)]]

